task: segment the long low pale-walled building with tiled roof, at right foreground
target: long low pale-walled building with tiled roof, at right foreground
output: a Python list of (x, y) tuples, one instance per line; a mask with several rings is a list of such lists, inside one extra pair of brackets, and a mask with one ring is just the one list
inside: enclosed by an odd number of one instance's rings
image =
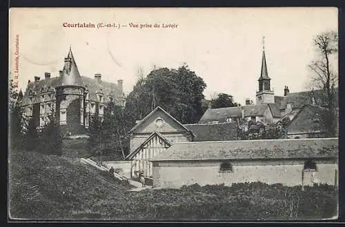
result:
[(337, 138), (205, 141), (173, 144), (150, 161), (159, 188), (256, 181), (338, 185), (338, 152)]

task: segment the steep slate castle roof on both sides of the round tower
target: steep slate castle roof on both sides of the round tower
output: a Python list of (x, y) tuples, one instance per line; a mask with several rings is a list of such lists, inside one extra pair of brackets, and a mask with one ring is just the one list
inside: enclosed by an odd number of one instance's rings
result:
[[(111, 94), (115, 102), (118, 101), (119, 95), (121, 95), (119, 88), (117, 87), (117, 84), (115, 83), (109, 83), (106, 81), (101, 81), (101, 83), (99, 83), (97, 79), (93, 79), (90, 77), (81, 77), (81, 81), (83, 81), (83, 86), (87, 87), (88, 92), (90, 94), (89, 99), (91, 101), (97, 101), (96, 92), (99, 89), (103, 90), (103, 94), (105, 98), (107, 98), (108, 95)], [(54, 88), (56, 88), (57, 86), (59, 86), (59, 77), (50, 77), (50, 78), (41, 79), (39, 81), (30, 81), (30, 83), (28, 83), (28, 86), (26, 88), (26, 92), (23, 95), (22, 105), (26, 106), (30, 103), (29, 102), (30, 91), (33, 94), (32, 103), (39, 103), (41, 102), (40, 101), (41, 99), (39, 96), (41, 95), (41, 92), (50, 91), (55, 94)]]

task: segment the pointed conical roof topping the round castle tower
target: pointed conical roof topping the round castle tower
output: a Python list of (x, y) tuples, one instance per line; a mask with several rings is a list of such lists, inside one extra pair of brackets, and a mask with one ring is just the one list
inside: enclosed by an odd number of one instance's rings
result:
[(70, 48), (68, 56), (65, 58), (65, 65), (60, 75), (59, 86), (83, 86), (83, 81), (75, 63), (75, 57), (73, 57), (72, 48)]

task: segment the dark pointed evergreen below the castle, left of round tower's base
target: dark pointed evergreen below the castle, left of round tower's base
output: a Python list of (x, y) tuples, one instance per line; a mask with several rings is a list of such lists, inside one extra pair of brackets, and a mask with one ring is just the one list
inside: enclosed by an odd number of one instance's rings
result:
[(63, 133), (53, 116), (50, 115), (49, 121), (41, 130), (38, 151), (46, 155), (62, 155)]

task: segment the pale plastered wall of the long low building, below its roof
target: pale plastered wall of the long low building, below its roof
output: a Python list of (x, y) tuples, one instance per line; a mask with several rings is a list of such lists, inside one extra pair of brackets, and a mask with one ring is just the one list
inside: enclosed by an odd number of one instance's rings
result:
[[(286, 186), (337, 184), (336, 161), (317, 162), (317, 171), (305, 172), (303, 161), (237, 161), (233, 171), (220, 172), (219, 161), (159, 162), (153, 167), (153, 186), (179, 188), (184, 185), (225, 184), (261, 181), (267, 184), (281, 183)], [(304, 176), (302, 177), (302, 172)]]

